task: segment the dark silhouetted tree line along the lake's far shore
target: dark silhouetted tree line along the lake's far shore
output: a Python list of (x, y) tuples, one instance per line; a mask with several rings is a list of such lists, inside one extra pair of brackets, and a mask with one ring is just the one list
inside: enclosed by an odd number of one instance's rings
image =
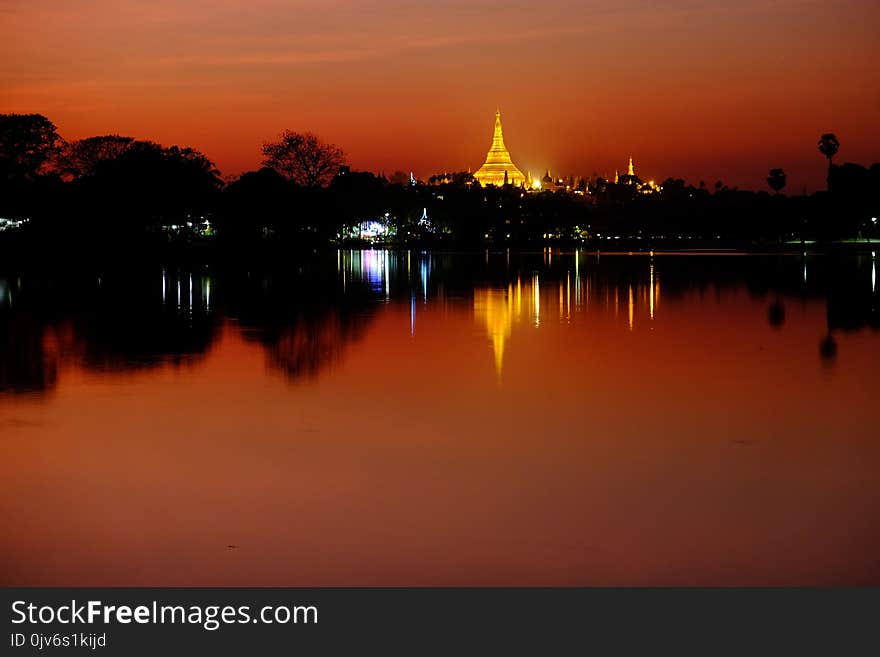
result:
[[(351, 171), (345, 152), (308, 132), (262, 145), (263, 167), (224, 182), (188, 147), (121, 135), (64, 140), (39, 114), (0, 115), (0, 217), (27, 218), (32, 242), (149, 241), (298, 244), (352, 239), (381, 222), (396, 242), (546, 243), (548, 240), (713, 244), (869, 239), (880, 215), (880, 164), (838, 165), (840, 142), (818, 141), (828, 189), (787, 196), (668, 178), (650, 193), (635, 177), (583, 180), (569, 192), (480, 187), (467, 172), (433, 177)], [(630, 179), (632, 178), (632, 179)], [(575, 193), (577, 192), (577, 193)], [(391, 237), (389, 237), (391, 239)]]

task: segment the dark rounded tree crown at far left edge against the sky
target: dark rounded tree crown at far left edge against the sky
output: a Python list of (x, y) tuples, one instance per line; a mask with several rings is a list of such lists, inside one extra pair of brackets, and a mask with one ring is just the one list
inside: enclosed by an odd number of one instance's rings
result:
[(0, 178), (33, 179), (62, 144), (55, 124), (42, 114), (0, 114)]

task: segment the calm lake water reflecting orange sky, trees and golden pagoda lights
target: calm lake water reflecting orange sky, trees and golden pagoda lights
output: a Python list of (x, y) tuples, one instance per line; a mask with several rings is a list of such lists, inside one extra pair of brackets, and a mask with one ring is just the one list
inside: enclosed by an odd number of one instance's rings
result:
[(2, 270), (0, 584), (878, 585), (876, 267)]

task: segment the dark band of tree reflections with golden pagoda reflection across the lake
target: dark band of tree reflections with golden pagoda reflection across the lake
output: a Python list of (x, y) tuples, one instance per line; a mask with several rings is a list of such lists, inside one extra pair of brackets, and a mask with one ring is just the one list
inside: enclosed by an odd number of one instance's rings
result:
[(791, 299), (824, 301), (826, 325), (817, 327), (816, 339), (822, 362), (831, 363), (841, 333), (880, 328), (875, 267), (869, 256), (544, 250), (346, 251), (274, 266), (22, 271), (0, 276), (0, 392), (51, 390), (65, 366), (109, 372), (197, 366), (226, 330), (259, 345), (268, 366), (287, 379), (314, 377), (341, 361), (383, 307), (406, 304), (415, 331), (424, 305), (462, 301), (488, 331), (500, 377), (517, 322), (540, 330), (598, 311), (638, 331), (689, 298), (743, 290), (762, 302), (762, 321), (773, 328), (790, 321)]

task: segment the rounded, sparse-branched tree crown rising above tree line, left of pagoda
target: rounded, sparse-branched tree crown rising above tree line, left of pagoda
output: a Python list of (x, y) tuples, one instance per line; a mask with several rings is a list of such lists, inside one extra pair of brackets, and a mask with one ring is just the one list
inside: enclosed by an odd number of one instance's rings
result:
[(311, 132), (285, 130), (278, 141), (263, 144), (263, 164), (303, 187), (323, 187), (330, 183), (339, 167), (346, 163), (345, 153)]

